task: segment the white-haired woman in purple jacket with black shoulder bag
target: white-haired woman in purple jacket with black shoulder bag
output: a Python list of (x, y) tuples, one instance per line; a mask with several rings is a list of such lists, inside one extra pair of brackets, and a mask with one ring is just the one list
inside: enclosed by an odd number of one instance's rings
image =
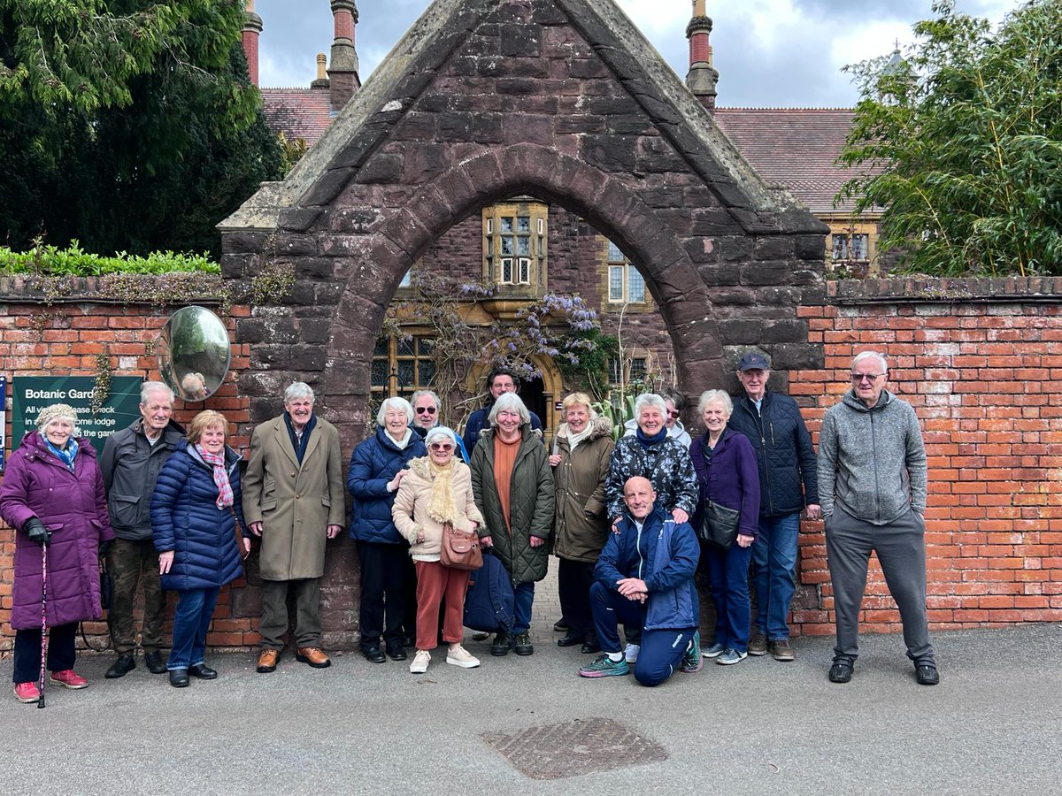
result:
[(737, 539), (730, 548), (723, 550), (701, 541), (701, 560), (707, 568), (716, 603), (716, 640), (704, 651), (704, 657), (726, 665), (748, 655), (749, 561), (759, 529), (759, 470), (748, 437), (726, 428), (734, 411), (726, 393), (703, 393), (697, 410), (707, 431), (689, 450), (700, 487), (693, 527), (701, 526), (709, 501), (741, 513)]

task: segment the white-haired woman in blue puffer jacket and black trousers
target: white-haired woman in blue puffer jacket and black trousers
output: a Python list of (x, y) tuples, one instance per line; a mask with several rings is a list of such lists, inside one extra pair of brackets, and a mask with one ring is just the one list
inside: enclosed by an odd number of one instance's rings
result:
[[(405, 398), (388, 398), (376, 413), (376, 433), (354, 449), (346, 488), (354, 496), (350, 538), (361, 561), (361, 654), (373, 663), (406, 660), (402, 621), (409, 569), (409, 546), (395, 527), (391, 508), (395, 492), (409, 474), (410, 460), (427, 454), (413, 432), (413, 408)], [(406, 628), (407, 631), (412, 628)]]

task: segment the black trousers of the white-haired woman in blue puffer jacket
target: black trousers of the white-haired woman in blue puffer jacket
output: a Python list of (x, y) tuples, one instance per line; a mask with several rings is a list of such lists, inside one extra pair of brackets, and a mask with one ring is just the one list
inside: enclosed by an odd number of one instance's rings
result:
[(361, 559), (361, 646), (401, 643), (406, 618), (409, 549), (405, 544), (358, 542)]

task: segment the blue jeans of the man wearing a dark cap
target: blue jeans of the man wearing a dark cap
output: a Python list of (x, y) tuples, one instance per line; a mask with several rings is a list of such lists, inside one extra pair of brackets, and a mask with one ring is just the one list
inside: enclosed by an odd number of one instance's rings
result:
[(761, 517), (752, 546), (752, 583), (756, 589), (757, 630), (770, 641), (788, 641), (789, 604), (796, 591), (796, 537), (800, 514)]

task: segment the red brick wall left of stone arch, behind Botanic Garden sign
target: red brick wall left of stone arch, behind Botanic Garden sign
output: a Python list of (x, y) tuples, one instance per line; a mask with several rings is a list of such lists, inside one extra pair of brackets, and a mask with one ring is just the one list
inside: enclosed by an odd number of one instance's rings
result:
[[(5, 439), (12, 448), (17, 440), (11, 434), (11, 379), (19, 376), (46, 376), (56, 374), (95, 374), (95, 357), (104, 350), (110, 352), (110, 367), (115, 376), (135, 376), (157, 380), (154, 343), (169, 316), (151, 306), (116, 306), (92, 300), (105, 294), (97, 280), (85, 280), (74, 285), (62, 302), (44, 306), (35, 301), (12, 300), (12, 293), (20, 289), (16, 280), (0, 280), (0, 374), (8, 379), (8, 392), (3, 396), (7, 408)], [(218, 311), (217, 309), (215, 310)], [(235, 318), (249, 314), (246, 307), (234, 307), (226, 319), (232, 329)], [(250, 402), (237, 395), (237, 376), (247, 368), (246, 346), (233, 346), (232, 366), (225, 383), (202, 403), (176, 401), (174, 417), (187, 422), (199, 411), (212, 409), (222, 412), (234, 423), (236, 433), (229, 444), (243, 451), (249, 443), (247, 421)], [(12, 646), (11, 629), (12, 578), (14, 575), (14, 532), (0, 521), (0, 652)], [(233, 585), (234, 590), (245, 588), (244, 581)], [(230, 591), (223, 590), (215, 615), (208, 643), (224, 646), (254, 644), (257, 633), (252, 631), (250, 618), (229, 618)], [(171, 598), (171, 615), (172, 615)], [(102, 646), (105, 638), (92, 638), (106, 633), (106, 625), (86, 624), (86, 635), (93, 646)], [(167, 625), (167, 633), (169, 625)], [(81, 643), (79, 641), (79, 643)]]

